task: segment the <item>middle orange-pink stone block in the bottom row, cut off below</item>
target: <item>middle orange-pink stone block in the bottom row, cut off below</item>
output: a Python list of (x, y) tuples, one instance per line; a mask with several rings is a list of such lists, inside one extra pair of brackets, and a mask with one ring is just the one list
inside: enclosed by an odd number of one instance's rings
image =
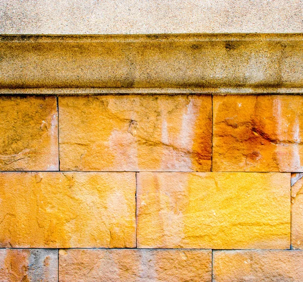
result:
[(60, 282), (210, 282), (210, 250), (60, 250)]

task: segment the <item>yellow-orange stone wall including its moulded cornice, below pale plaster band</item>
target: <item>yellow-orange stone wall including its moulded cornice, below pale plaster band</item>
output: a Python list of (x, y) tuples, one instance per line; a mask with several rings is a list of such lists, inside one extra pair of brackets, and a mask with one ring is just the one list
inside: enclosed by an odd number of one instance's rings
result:
[(2, 36), (0, 281), (301, 282), (302, 43)]

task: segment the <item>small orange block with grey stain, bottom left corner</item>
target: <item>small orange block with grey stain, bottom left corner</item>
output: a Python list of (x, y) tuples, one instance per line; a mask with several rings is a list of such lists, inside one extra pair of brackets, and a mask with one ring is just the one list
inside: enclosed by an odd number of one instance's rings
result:
[(58, 250), (1, 249), (0, 281), (58, 281)]

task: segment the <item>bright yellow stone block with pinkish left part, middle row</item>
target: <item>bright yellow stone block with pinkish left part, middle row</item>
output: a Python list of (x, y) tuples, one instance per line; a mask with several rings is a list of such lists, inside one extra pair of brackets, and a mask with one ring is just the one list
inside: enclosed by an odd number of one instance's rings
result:
[(137, 173), (139, 248), (286, 249), (288, 173)]

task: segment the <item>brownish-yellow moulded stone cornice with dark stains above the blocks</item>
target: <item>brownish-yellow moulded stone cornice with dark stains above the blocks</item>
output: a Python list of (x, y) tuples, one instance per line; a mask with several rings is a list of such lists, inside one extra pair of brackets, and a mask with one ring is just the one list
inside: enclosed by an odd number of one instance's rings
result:
[(1, 94), (301, 93), (302, 34), (0, 36)]

